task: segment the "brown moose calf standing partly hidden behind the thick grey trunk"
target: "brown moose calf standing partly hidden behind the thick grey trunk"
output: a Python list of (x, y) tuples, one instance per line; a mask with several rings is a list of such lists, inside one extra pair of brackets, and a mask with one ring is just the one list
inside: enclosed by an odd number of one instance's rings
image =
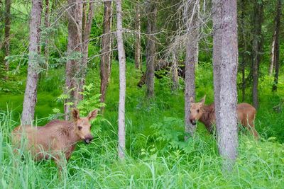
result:
[[(190, 121), (200, 120), (209, 132), (212, 132), (213, 125), (216, 121), (215, 106), (214, 103), (211, 105), (204, 105), (205, 97), (202, 98), (200, 103), (195, 103), (193, 98), (190, 98)], [(258, 138), (258, 132), (254, 127), (254, 119), (256, 118), (256, 108), (248, 103), (239, 103), (236, 108), (238, 114), (238, 120), (241, 125), (251, 130), (255, 138)]]

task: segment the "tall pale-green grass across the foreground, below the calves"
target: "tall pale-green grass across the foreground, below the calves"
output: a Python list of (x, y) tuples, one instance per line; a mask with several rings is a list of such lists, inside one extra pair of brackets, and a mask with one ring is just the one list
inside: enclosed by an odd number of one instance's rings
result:
[(255, 142), (243, 134), (239, 139), (239, 158), (229, 175), (222, 173), (214, 137), (200, 135), (193, 139), (189, 144), (204, 145), (190, 154), (181, 149), (162, 153), (156, 139), (147, 145), (147, 137), (142, 137), (133, 142), (133, 145), (146, 144), (140, 151), (136, 149), (136, 157), (126, 156), (125, 161), (119, 161), (116, 139), (97, 130), (94, 142), (87, 146), (78, 144), (66, 170), (58, 176), (53, 161), (35, 162), (28, 153), (24, 159), (13, 153), (9, 128), (16, 123), (11, 115), (1, 113), (1, 188), (282, 188), (284, 185), (284, 145), (264, 139)]

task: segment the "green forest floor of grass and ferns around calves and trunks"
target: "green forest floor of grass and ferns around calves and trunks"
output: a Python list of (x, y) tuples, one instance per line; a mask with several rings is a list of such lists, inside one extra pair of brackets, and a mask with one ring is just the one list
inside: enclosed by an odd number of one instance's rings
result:
[[(38, 86), (35, 108), (37, 125), (54, 118), (54, 108), (62, 112), (58, 98), (64, 85), (64, 69), (50, 70)], [(197, 69), (197, 100), (214, 98), (212, 66)], [(240, 77), (238, 77), (238, 82)], [(145, 86), (137, 88), (138, 71), (129, 63), (126, 72), (126, 160), (117, 159), (117, 108), (119, 71), (113, 64), (107, 91), (106, 110), (93, 122), (92, 144), (79, 143), (62, 176), (53, 161), (35, 162), (13, 154), (10, 132), (19, 125), (23, 103), (24, 77), (0, 93), (0, 188), (283, 188), (284, 110), (275, 105), (284, 97), (284, 76), (278, 92), (272, 93), (273, 78), (263, 76), (259, 84), (260, 107), (256, 117), (259, 141), (246, 131), (239, 133), (239, 157), (230, 174), (222, 173), (214, 135), (198, 123), (194, 139), (183, 141), (184, 94), (170, 90), (170, 79), (155, 80), (155, 98), (147, 101)], [(89, 70), (87, 85), (99, 93), (99, 67)], [(3, 88), (3, 86), (2, 86)], [(246, 102), (251, 102), (250, 89)], [(239, 91), (239, 100), (241, 99)], [(282, 106), (283, 108), (283, 106)]]

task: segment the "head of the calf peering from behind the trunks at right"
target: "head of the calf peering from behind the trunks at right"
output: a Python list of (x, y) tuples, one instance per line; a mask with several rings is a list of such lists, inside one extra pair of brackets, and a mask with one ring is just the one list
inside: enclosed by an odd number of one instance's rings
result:
[(199, 120), (203, 114), (205, 97), (206, 96), (204, 96), (199, 103), (195, 103), (194, 99), (190, 97), (190, 122), (192, 125), (196, 125), (197, 120)]

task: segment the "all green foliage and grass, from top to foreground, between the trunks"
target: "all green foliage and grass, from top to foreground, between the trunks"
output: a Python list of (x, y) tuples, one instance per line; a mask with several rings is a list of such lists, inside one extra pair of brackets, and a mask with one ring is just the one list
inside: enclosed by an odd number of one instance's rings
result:
[[(67, 23), (58, 17), (63, 3), (54, 5), (54, 24), (43, 27), (43, 37), (50, 38), (49, 69), (40, 72), (38, 101), (35, 108), (35, 125), (45, 125), (54, 118), (62, 118), (65, 96), (65, 56), (67, 48)], [(271, 54), (271, 36), (275, 4), (265, 7), (263, 24), (263, 57), (259, 76), (259, 109), (256, 130), (259, 141), (246, 130), (239, 131), (239, 157), (232, 173), (222, 173), (222, 159), (217, 150), (214, 134), (209, 134), (199, 122), (197, 134), (184, 142), (184, 81), (180, 79), (178, 91), (171, 91), (172, 79), (164, 76), (155, 79), (155, 98), (145, 98), (146, 88), (137, 88), (141, 71), (134, 69), (133, 35), (126, 33), (126, 160), (117, 157), (117, 109), (119, 101), (119, 69), (116, 52), (113, 52), (111, 77), (107, 89), (104, 115), (92, 123), (94, 141), (77, 144), (67, 168), (58, 175), (53, 161), (35, 162), (31, 154), (23, 158), (13, 153), (11, 130), (20, 124), (23, 93), (26, 86), (28, 62), (28, 19), (30, 2), (16, 1), (11, 9), (10, 71), (1, 67), (0, 80), (0, 188), (283, 188), (284, 185), (284, 43), (280, 41), (280, 76), (278, 91), (271, 92), (273, 76), (268, 76)], [(160, 6), (173, 7), (174, 1), (164, 1)], [(124, 27), (132, 28), (133, 5), (124, 3)], [(246, 6), (246, 35), (250, 33), (249, 12)], [(174, 9), (173, 9), (174, 10)], [(173, 11), (171, 10), (171, 11)], [(1, 11), (3, 7), (1, 6)], [(57, 12), (56, 12), (57, 11)], [(168, 31), (173, 23), (163, 24), (167, 11), (159, 12), (158, 28)], [(99, 103), (99, 52), (102, 35), (102, 6), (97, 6), (89, 43), (89, 63), (84, 101), (79, 105), (82, 114), (104, 104)], [(142, 30), (146, 21), (142, 18)], [(55, 22), (56, 20), (56, 22)], [(25, 23), (25, 24), (23, 24)], [(53, 23), (53, 22), (51, 22)], [(1, 22), (2, 24), (2, 22)], [(208, 23), (211, 25), (212, 23)], [(168, 27), (168, 28), (167, 28)], [(0, 25), (0, 30), (4, 26)], [(209, 32), (208, 32), (209, 33)], [(159, 50), (163, 52), (168, 36), (159, 35)], [(240, 34), (241, 35), (241, 34)], [(145, 47), (145, 36), (142, 37)], [(281, 33), (283, 39), (283, 29)], [(0, 37), (2, 41), (2, 35)], [(251, 36), (248, 37), (251, 40)], [(42, 40), (44, 41), (44, 40)], [(211, 36), (200, 43), (199, 67), (196, 72), (197, 99), (207, 95), (206, 104), (214, 99), (212, 74)], [(44, 47), (45, 44), (42, 44)], [(240, 47), (240, 51), (243, 50)], [(251, 52), (247, 52), (251, 53)], [(163, 54), (163, 53), (162, 53)], [(44, 59), (44, 57), (42, 57)], [(184, 59), (184, 57), (180, 57)], [(0, 52), (0, 63), (4, 52)], [(145, 53), (143, 54), (145, 70)], [(246, 76), (251, 66), (246, 65)], [(8, 75), (5, 80), (3, 75)], [(241, 102), (241, 73), (238, 74), (239, 102)], [(246, 86), (247, 103), (252, 102), (251, 83)]]

